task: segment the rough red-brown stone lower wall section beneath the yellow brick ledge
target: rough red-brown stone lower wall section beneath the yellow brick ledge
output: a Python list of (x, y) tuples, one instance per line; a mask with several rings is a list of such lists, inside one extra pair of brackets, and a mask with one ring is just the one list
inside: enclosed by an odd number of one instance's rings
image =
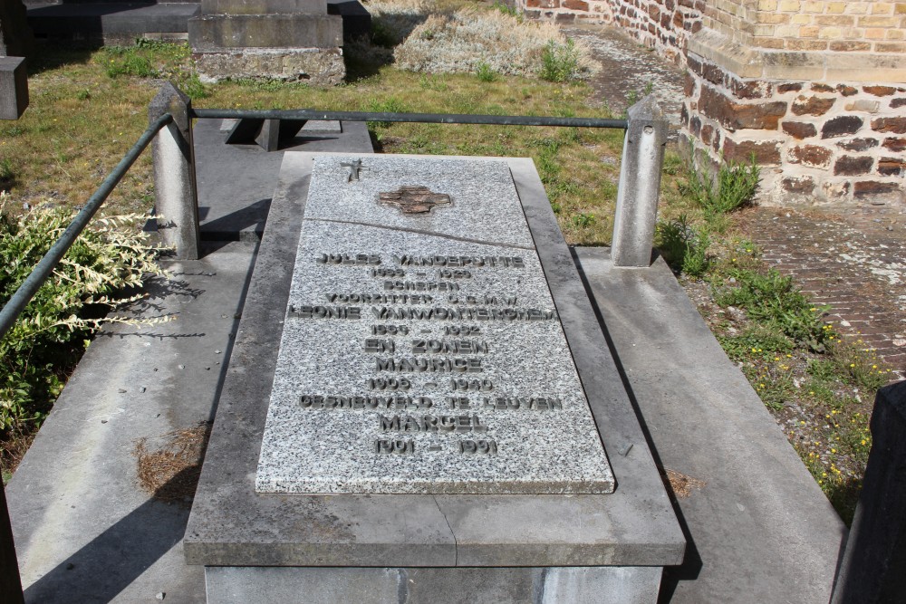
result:
[(690, 53), (680, 119), (712, 158), (762, 165), (776, 202), (902, 199), (906, 86), (745, 80)]

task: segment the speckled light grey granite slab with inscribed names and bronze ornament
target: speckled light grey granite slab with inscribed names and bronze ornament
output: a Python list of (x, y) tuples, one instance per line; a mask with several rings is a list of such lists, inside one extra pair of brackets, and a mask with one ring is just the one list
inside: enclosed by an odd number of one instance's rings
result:
[(506, 161), (313, 175), (256, 490), (611, 493)]

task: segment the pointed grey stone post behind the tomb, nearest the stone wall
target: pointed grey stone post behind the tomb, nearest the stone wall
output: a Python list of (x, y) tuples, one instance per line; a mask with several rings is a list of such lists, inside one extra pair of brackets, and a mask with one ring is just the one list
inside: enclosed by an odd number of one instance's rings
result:
[(658, 218), (660, 169), (667, 144), (667, 120), (648, 95), (629, 108), (623, 141), (617, 209), (613, 218), (614, 266), (649, 266)]

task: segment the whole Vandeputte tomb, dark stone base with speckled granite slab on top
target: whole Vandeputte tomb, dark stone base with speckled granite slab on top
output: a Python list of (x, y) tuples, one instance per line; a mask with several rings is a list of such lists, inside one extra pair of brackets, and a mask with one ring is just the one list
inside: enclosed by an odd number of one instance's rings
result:
[(682, 560), (531, 160), (286, 153), (245, 308), (209, 603), (653, 602)]

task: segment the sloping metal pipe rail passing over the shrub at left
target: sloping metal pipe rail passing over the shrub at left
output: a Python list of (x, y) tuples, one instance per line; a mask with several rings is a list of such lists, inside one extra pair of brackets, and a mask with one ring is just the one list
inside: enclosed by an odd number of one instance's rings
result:
[(19, 318), (19, 313), (23, 311), (28, 302), (31, 302), (34, 294), (41, 289), (53, 268), (60, 262), (60, 259), (63, 258), (63, 255), (66, 254), (72, 244), (75, 243), (76, 237), (81, 235), (85, 226), (91, 222), (92, 217), (101, 208), (101, 204), (110, 196), (113, 187), (120, 183), (122, 177), (126, 175), (132, 164), (139, 158), (141, 152), (148, 147), (151, 140), (157, 136), (160, 129), (163, 129), (172, 121), (173, 117), (169, 113), (165, 113), (142, 133), (135, 144), (132, 145), (132, 148), (120, 159), (120, 163), (116, 165), (116, 168), (113, 168), (110, 175), (104, 178), (101, 187), (98, 187), (92, 197), (88, 198), (82, 210), (72, 219), (72, 223), (66, 227), (66, 230), (63, 231), (63, 235), (60, 235), (60, 238), (51, 246), (47, 254), (44, 254), (38, 264), (34, 265), (32, 273), (28, 275), (22, 285), (19, 286), (19, 289), (6, 302), (3, 311), (0, 311), (0, 338), (3, 338), (6, 332), (12, 329), (15, 321)]

